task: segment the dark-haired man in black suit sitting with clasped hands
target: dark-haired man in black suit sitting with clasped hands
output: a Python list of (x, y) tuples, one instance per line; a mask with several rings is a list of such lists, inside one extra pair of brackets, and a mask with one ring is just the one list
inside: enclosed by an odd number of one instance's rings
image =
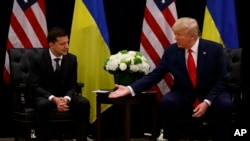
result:
[(33, 60), (30, 72), (30, 84), (35, 94), (37, 138), (39, 141), (49, 140), (49, 112), (57, 109), (74, 112), (76, 140), (87, 141), (90, 104), (85, 97), (73, 96), (77, 86), (77, 59), (68, 53), (68, 35), (63, 29), (54, 27), (47, 40), (49, 49)]

